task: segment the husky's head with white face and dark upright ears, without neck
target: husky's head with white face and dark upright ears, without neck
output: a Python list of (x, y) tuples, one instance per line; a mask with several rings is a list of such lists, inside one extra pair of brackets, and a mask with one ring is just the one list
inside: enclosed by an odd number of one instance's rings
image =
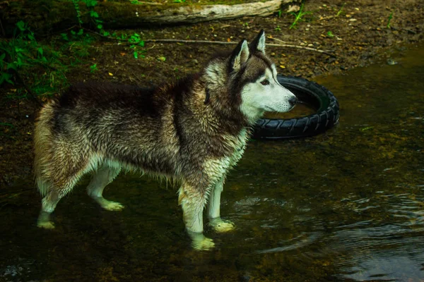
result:
[(235, 47), (229, 67), (240, 83), (240, 110), (249, 121), (256, 121), (265, 111), (286, 112), (295, 106), (298, 99), (278, 82), (276, 66), (265, 54), (264, 30), (249, 45), (242, 40)]

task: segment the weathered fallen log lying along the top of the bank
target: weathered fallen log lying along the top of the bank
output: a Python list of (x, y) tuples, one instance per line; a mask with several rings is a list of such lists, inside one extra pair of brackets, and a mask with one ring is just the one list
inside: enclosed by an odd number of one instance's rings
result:
[[(131, 3), (132, 2), (132, 3)], [(210, 20), (230, 20), (245, 16), (269, 16), (293, 0), (270, 0), (235, 5), (199, 4), (134, 4), (134, 1), (102, 1), (94, 7), (105, 28), (120, 29), (151, 25), (177, 25), (200, 23)], [(79, 2), (81, 20), (85, 26), (93, 23), (90, 10), (83, 1)], [(13, 34), (19, 20), (25, 21), (36, 33), (47, 34), (78, 25), (76, 9), (72, 1), (24, 1), (16, 0), (13, 5), (0, 0), (0, 20), (5, 35)]]

